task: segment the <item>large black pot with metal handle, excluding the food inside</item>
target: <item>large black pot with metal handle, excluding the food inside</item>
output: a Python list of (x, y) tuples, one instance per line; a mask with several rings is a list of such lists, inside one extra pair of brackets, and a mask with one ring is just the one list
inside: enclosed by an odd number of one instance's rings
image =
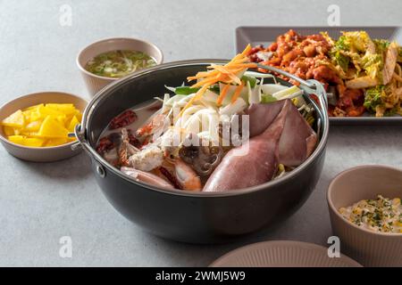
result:
[[(314, 127), (320, 140), (314, 153), (289, 175), (247, 189), (219, 193), (157, 189), (133, 181), (96, 153), (96, 141), (113, 117), (166, 93), (164, 85), (181, 85), (211, 63), (224, 62), (178, 61), (121, 78), (96, 94), (76, 129), (106, 198), (122, 216), (147, 232), (191, 243), (228, 241), (283, 221), (304, 204), (321, 175), (329, 123), (326, 112), (315, 103)], [(312, 102), (308, 96), (306, 100)]]

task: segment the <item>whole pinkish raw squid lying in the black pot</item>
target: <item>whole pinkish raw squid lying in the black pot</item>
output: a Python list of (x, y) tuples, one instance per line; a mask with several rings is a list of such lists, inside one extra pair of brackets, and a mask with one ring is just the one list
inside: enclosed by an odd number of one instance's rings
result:
[[(297, 167), (314, 151), (317, 134), (289, 99), (252, 104), (247, 114), (250, 139), (226, 154), (203, 191), (229, 191), (266, 183), (280, 163)], [(243, 151), (247, 155), (239, 155)]]

